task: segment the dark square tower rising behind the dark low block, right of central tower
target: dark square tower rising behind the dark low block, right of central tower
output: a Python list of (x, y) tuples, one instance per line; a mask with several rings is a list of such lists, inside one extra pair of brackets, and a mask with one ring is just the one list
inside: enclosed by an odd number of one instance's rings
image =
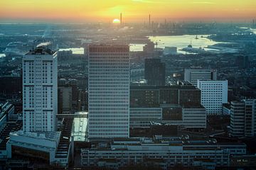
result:
[(165, 85), (165, 64), (159, 58), (145, 59), (145, 79), (148, 85)]

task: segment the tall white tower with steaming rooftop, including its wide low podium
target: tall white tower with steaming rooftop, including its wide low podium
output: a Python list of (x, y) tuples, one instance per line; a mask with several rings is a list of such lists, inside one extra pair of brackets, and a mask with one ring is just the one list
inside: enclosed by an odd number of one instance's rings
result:
[(53, 55), (46, 47), (37, 47), (23, 56), (23, 130), (10, 133), (7, 158), (22, 155), (68, 166), (71, 148), (68, 131), (73, 120), (64, 119), (65, 136), (56, 132), (57, 66), (56, 53)]

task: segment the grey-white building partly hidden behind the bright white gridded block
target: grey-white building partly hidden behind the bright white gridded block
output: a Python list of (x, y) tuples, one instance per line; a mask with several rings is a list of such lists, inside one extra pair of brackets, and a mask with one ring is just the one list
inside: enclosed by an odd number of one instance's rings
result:
[(217, 80), (217, 71), (213, 69), (185, 69), (184, 80), (197, 86), (198, 80)]

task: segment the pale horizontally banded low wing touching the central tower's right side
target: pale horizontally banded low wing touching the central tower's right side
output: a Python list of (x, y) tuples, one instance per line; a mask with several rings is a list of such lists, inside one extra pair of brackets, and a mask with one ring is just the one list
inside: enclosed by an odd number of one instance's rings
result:
[(130, 108), (130, 128), (149, 128), (151, 121), (162, 120), (162, 108)]

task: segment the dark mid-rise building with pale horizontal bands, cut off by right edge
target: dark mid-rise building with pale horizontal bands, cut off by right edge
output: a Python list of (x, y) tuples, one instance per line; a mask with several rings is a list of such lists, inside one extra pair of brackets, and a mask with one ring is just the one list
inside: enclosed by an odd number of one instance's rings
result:
[(256, 136), (256, 99), (231, 102), (230, 128), (234, 137)]

